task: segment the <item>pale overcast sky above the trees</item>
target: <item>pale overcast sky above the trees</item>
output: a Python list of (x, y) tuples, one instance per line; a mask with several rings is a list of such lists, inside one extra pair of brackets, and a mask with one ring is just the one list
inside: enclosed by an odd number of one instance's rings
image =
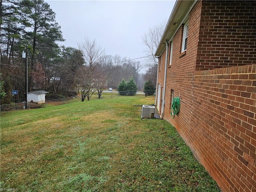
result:
[[(46, 0), (56, 13), (65, 42), (77, 48), (88, 37), (96, 40), (107, 55), (130, 59), (146, 56), (142, 36), (160, 22), (168, 20), (174, 0)], [(143, 64), (143, 58), (138, 59)]]

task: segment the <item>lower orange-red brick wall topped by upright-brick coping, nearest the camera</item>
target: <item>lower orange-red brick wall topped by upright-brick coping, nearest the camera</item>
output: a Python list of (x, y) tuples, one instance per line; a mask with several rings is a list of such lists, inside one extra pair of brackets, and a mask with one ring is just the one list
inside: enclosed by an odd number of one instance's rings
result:
[(196, 72), (192, 139), (223, 191), (256, 191), (256, 64)]

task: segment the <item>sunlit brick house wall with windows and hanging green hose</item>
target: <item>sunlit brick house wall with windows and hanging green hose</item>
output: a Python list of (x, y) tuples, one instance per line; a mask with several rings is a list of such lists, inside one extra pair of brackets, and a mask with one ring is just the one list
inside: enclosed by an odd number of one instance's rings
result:
[[(193, 140), (190, 132), (190, 116), (193, 109), (192, 82), (195, 73), (196, 53), (198, 45), (198, 34), (200, 29), (201, 1), (194, 6), (189, 17), (189, 32), (186, 54), (181, 52), (182, 36), (184, 26), (180, 26), (172, 40), (172, 64), (168, 66), (166, 75), (166, 96), (164, 107), (164, 119), (170, 122), (180, 133), (185, 142), (190, 146), (193, 152)], [(193, 31), (190, 33), (190, 31)], [(170, 56), (168, 56), (168, 64)], [(180, 114), (174, 120), (170, 116), (171, 108), (171, 90), (174, 90), (174, 97), (181, 96), (186, 103), (181, 103)]]

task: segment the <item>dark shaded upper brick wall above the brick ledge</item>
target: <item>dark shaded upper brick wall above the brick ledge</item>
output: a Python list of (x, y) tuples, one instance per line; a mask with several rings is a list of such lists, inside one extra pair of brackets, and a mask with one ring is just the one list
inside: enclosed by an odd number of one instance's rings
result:
[(197, 70), (254, 64), (256, 1), (202, 1)]

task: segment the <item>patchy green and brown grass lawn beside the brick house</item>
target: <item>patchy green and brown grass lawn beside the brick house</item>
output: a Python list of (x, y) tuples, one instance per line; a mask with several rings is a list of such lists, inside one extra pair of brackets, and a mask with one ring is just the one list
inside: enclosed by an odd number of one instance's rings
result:
[[(79, 99), (78, 99), (79, 100)], [(176, 130), (141, 120), (154, 96), (1, 114), (1, 186), (21, 192), (220, 192)]]

